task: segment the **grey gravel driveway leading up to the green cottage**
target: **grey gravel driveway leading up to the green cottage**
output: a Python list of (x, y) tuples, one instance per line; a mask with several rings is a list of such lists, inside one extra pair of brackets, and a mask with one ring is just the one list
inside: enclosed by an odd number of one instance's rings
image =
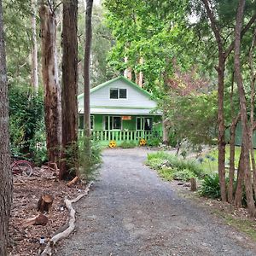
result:
[(256, 255), (256, 246), (179, 198), (143, 165), (147, 150), (107, 149), (101, 175), (79, 201), (77, 232), (57, 255)]

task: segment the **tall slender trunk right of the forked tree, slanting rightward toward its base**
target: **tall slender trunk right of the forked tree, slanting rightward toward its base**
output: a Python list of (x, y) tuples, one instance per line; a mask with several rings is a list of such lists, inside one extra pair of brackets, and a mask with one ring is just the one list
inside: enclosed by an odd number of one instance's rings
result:
[(241, 46), (241, 26), (243, 20), (245, 0), (240, 0), (238, 3), (237, 15), (236, 15), (236, 29), (235, 29), (235, 56), (234, 66), (236, 83), (239, 91), (239, 100), (241, 108), (241, 133), (242, 143), (244, 145), (243, 162), (241, 168), (244, 170), (244, 183), (247, 195), (247, 209), (250, 216), (255, 215), (255, 204), (253, 200), (253, 187), (252, 187), (252, 175), (250, 168), (249, 152), (250, 152), (250, 140), (249, 130), (247, 125), (247, 102), (245, 97), (245, 91), (241, 76), (241, 61), (240, 61), (240, 46)]

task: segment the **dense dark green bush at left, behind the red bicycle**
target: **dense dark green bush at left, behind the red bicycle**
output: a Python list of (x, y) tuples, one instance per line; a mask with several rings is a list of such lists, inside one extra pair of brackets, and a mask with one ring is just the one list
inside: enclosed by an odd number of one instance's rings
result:
[(9, 116), (12, 153), (46, 160), (42, 92), (36, 94), (26, 84), (9, 86)]

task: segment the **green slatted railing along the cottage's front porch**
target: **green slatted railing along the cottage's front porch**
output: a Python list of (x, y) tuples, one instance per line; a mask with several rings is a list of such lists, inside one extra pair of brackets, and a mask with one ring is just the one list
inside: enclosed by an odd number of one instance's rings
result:
[[(83, 136), (83, 131), (79, 130), (79, 137)], [(91, 131), (92, 139), (95, 141), (139, 141), (153, 137), (162, 137), (160, 131)]]

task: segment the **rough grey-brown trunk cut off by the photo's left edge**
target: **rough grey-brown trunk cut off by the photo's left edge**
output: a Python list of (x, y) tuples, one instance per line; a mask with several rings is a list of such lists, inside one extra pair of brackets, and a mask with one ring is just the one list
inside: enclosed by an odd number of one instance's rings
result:
[(9, 101), (3, 40), (3, 9), (0, 1), (0, 255), (7, 255), (12, 175), (9, 154)]

